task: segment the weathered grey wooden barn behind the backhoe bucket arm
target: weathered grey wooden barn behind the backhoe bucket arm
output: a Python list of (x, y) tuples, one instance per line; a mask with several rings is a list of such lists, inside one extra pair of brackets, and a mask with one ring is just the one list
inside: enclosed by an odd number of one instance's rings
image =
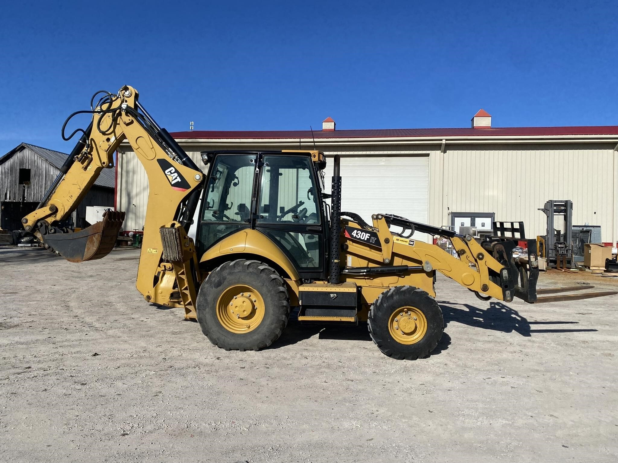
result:
[[(22, 217), (36, 209), (68, 154), (21, 143), (0, 157), (0, 228), (19, 230)], [(86, 206), (114, 207), (114, 171), (104, 169), (73, 214), (87, 227)]]

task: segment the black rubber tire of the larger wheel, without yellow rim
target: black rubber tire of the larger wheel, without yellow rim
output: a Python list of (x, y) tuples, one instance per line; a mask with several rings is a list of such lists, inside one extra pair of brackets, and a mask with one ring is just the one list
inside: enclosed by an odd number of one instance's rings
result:
[[(226, 290), (240, 285), (254, 288), (263, 300), (263, 317), (248, 332), (229, 330), (222, 324), (221, 312), (218, 314), (218, 302), (225, 297)], [(201, 284), (196, 305), (201, 331), (211, 343), (226, 351), (258, 351), (270, 346), (281, 336), (290, 315), (287, 288), (276, 270), (263, 262), (245, 259), (214, 269)]]

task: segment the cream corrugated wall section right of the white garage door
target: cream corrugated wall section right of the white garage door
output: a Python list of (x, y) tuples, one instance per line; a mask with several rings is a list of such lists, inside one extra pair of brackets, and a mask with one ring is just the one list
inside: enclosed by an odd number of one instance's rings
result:
[(574, 225), (601, 225), (615, 241), (613, 146), (600, 144), (457, 145), (444, 154), (442, 224), (448, 212), (495, 212), (523, 220), (527, 236), (546, 233), (539, 207), (572, 199)]

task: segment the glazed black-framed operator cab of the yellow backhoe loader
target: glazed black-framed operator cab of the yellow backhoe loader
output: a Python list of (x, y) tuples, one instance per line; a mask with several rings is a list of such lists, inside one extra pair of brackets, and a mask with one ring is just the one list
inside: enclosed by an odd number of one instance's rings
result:
[[(253, 228), (275, 243), (302, 278), (324, 278), (328, 217), (320, 151), (205, 151), (208, 181), (196, 234), (198, 256)], [(327, 206), (328, 207), (328, 206)]]

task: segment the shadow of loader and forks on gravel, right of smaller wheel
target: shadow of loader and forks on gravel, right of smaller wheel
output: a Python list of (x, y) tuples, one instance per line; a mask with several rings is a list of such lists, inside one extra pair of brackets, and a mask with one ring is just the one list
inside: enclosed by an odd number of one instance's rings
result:
[(523, 315), (502, 302), (489, 302), (489, 307), (480, 309), (470, 304), (438, 301), (444, 315), (444, 325), (450, 322), (464, 323), (470, 327), (483, 328), (504, 333), (519, 333), (531, 336), (532, 333), (581, 333), (595, 332), (595, 329), (585, 328), (547, 328), (532, 329), (531, 325), (573, 325), (579, 322), (552, 321), (529, 322)]

